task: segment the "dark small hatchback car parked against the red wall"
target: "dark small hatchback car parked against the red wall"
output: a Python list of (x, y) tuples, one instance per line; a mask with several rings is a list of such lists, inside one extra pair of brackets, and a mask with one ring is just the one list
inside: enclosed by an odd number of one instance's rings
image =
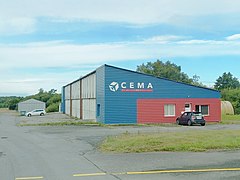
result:
[(176, 119), (178, 125), (186, 124), (191, 126), (193, 124), (201, 124), (205, 126), (205, 119), (201, 112), (184, 112), (181, 116)]

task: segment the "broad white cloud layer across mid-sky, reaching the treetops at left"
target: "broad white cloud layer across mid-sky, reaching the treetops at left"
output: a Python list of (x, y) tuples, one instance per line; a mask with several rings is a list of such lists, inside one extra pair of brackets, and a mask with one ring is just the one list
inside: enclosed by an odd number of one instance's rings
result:
[[(61, 91), (63, 85), (105, 63), (114, 64), (123, 60), (240, 55), (239, 41), (184, 41), (174, 36), (150, 39), (154, 41), (89, 45), (54, 41), (0, 45), (0, 95), (6, 94), (6, 91), (9, 94), (15, 92), (15, 94), (30, 95), (40, 88), (45, 90), (57, 88)], [(158, 40), (163, 39), (174, 41), (158, 43)], [(41, 73), (38, 70), (57, 67), (60, 68), (58, 72), (48, 70)], [(33, 70), (24, 72), (26, 68)], [(69, 68), (73, 70), (65, 70)]]

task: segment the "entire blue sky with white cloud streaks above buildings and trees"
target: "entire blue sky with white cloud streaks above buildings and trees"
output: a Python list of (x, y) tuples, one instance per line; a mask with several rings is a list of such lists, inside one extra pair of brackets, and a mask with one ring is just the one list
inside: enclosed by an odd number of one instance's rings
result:
[(0, 96), (57, 89), (102, 64), (170, 60), (240, 78), (240, 1), (0, 0)]

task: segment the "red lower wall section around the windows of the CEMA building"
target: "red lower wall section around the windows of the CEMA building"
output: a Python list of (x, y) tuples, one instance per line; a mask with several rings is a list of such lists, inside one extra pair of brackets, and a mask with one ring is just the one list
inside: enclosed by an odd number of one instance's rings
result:
[[(137, 122), (144, 123), (174, 123), (176, 118), (185, 110), (185, 104), (190, 103), (192, 109), (195, 105), (208, 105), (209, 115), (205, 116), (207, 122), (221, 121), (220, 99), (138, 99)], [(164, 105), (175, 104), (175, 116), (164, 116)]]

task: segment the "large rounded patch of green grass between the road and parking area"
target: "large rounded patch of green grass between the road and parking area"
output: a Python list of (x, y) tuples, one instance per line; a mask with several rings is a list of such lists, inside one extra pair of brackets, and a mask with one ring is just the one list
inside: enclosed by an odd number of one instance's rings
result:
[(103, 152), (120, 153), (233, 150), (240, 148), (240, 131), (212, 130), (154, 134), (125, 133), (115, 137), (108, 137), (99, 148)]

